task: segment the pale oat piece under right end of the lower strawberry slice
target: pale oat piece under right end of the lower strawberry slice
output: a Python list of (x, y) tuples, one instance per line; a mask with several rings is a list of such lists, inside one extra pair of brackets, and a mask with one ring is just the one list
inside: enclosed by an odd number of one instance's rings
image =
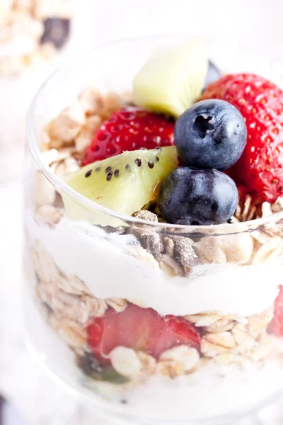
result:
[(164, 351), (159, 361), (170, 363), (171, 368), (175, 370), (175, 375), (183, 375), (190, 372), (200, 360), (200, 354), (195, 348), (185, 345), (176, 346)]

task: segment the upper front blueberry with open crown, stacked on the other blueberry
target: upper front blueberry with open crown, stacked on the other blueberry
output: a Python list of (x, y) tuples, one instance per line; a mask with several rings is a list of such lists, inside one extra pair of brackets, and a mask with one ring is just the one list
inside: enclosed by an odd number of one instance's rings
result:
[(226, 101), (195, 103), (175, 123), (175, 145), (187, 166), (226, 170), (235, 164), (247, 142), (243, 116)]

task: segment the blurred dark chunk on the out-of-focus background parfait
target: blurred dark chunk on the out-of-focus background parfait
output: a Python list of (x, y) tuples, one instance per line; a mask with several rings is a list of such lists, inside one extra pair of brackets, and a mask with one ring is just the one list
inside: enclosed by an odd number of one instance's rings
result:
[(51, 42), (57, 49), (62, 47), (69, 37), (70, 20), (65, 18), (47, 18), (43, 25), (45, 30), (40, 40), (41, 44)]

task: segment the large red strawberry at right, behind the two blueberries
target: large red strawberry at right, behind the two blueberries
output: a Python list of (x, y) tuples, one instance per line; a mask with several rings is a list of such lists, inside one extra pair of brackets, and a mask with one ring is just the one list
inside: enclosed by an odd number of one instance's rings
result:
[(283, 91), (257, 75), (233, 74), (210, 84), (201, 100), (208, 98), (232, 103), (246, 120), (246, 149), (228, 173), (275, 201), (283, 195)]

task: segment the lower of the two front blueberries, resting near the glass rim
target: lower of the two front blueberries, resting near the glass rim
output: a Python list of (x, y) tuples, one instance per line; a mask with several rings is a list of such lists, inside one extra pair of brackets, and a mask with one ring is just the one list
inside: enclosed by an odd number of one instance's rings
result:
[(218, 225), (227, 222), (238, 205), (236, 184), (217, 170), (181, 166), (163, 181), (158, 207), (178, 225)]

